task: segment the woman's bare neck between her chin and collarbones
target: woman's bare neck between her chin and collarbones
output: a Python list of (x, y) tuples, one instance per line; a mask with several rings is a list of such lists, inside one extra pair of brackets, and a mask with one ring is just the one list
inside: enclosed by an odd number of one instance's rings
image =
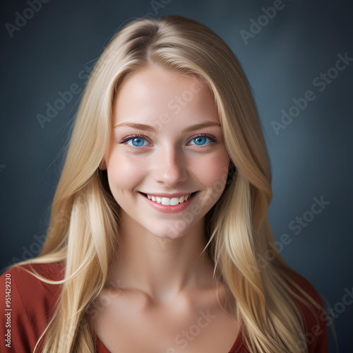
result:
[(204, 222), (177, 239), (162, 239), (121, 214), (119, 256), (110, 280), (155, 301), (171, 301), (184, 289), (213, 287), (213, 261), (205, 248)]

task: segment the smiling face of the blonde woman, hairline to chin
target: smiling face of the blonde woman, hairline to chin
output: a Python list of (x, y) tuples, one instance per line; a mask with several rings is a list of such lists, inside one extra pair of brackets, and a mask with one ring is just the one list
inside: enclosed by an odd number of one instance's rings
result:
[(143, 68), (116, 92), (112, 130), (104, 164), (123, 227), (174, 239), (203, 225), (229, 168), (212, 92)]

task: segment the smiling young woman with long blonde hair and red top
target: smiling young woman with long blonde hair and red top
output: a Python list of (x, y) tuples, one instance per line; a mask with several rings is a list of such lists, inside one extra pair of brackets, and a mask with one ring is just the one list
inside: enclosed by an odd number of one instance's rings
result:
[(195, 20), (133, 20), (88, 81), (40, 256), (1, 276), (1, 352), (328, 352), (271, 197), (231, 49)]

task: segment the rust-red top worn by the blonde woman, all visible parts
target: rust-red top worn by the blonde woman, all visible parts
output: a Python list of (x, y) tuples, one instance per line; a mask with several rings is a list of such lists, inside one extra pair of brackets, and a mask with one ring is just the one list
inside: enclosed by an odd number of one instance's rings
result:
[[(29, 268), (28, 265), (25, 267)], [(61, 280), (64, 276), (63, 263), (35, 264), (32, 267), (44, 277), (52, 280)], [(316, 289), (307, 280), (298, 277), (297, 282), (322, 305)], [(1, 275), (0, 337), (2, 338), (0, 352), (28, 353), (33, 351), (37, 340), (54, 313), (59, 289), (59, 285), (48, 285), (20, 267), (12, 268)], [(328, 331), (325, 317), (320, 313), (318, 313), (319, 316), (315, 315), (304, 304), (299, 303), (298, 306), (304, 316), (305, 338), (309, 345), (309, 352), (328, 353)], [(97, 353), (109, 353), (97, 335), (95, 335), (95, 341)], [(229, 353), (249, 353), (241, 338), (241, 333)]]

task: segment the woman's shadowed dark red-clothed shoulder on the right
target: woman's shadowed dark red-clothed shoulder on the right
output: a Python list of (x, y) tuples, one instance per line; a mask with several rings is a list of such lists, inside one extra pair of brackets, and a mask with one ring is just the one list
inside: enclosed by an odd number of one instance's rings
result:
[[(321, 295), (305, 277), (298, 273), (294, 273), (291, 277), (297, 286), (311, 298), (311, 300), (308, 299), (298, 288), (294, 288), (294, 292), (298, 294), (298, 298), (295, 298), (294, 301), (299, 308), (305, 326), (305, 335), (302, 340), (306, 340), (309, 352), (326, 353), (328, 352), (328, 325), (330, 322)], [(303, 345), (303, 343), (298, 342), (298, 345)]]

